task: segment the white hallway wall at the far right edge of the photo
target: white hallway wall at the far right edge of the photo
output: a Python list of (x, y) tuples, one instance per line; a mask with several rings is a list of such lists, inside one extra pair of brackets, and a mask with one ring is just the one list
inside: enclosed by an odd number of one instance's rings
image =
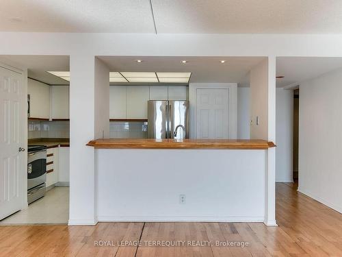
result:
[(298, 191), (342, 212), (342, 70), (300, 84)]

